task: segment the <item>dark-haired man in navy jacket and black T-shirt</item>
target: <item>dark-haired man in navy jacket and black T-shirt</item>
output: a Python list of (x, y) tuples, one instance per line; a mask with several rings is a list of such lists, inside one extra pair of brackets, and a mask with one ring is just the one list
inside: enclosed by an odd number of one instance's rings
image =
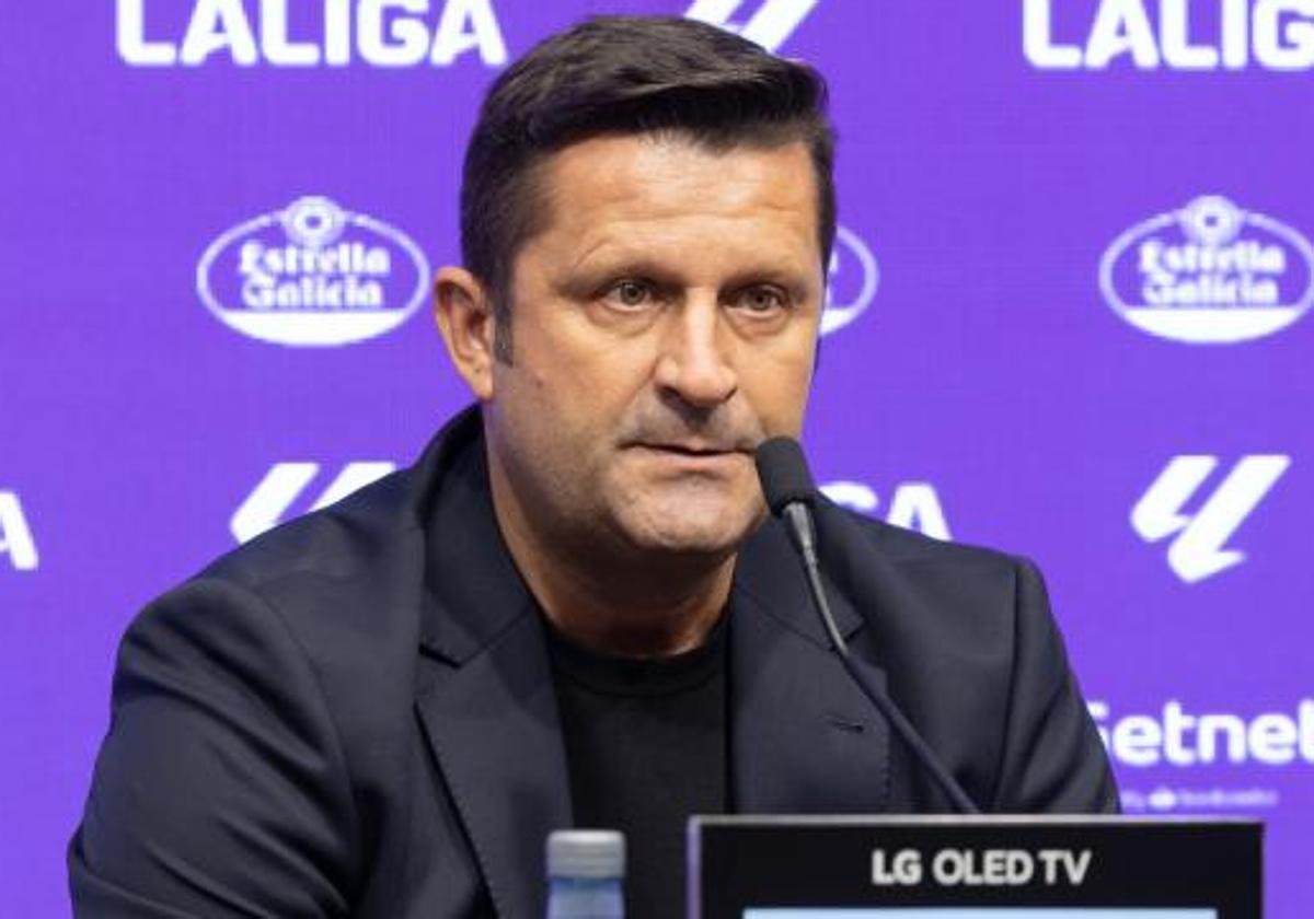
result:
[[(820, 77), (711, 26), (599, 18), (503, 74), (436, 281), (478, 407), (131, 626), (79, 912), (535, 916), (578, 824), (671, 916), (690, 813), (946, 809), (753, 466), (803, 423), (830, 164)], [(1116, 807), (1029, 565), (819, 529), (854, 652), (983, 809)]]

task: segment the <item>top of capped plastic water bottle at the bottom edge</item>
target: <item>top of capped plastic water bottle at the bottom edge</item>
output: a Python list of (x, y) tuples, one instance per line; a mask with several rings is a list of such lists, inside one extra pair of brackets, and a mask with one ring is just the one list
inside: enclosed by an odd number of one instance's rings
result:
[(625, 838), (615, 830), (548, 835), (548, 919), (624, 919)]

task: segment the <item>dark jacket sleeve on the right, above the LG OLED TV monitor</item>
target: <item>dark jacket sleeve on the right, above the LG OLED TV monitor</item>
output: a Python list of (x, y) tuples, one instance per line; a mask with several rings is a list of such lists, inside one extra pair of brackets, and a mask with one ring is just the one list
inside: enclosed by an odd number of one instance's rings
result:
[(999, 813), (1118, 813), (1109, 759), (1068, 666), (1035, 567), (1018, 561), (1014, 656), (999, 784)]

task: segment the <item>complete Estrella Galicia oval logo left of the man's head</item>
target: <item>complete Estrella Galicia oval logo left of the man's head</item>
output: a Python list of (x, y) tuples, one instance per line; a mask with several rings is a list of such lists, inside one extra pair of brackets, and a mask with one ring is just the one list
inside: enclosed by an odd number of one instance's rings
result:
[(196, 289), (243, 335), (334, 347), (401, 326), (423, 303), (428, 277), (424, 253), (401, 230), (311, 196), (210, 243)]

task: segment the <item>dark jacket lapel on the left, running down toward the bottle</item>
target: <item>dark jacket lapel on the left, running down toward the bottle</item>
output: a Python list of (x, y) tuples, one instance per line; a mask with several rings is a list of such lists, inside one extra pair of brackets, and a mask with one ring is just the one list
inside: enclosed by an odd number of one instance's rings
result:
[(497, 530), (477, 425), (449, 428), (436, 460), (417, 708), (498, 915), (533, 916), (570, 788), (543, 624)]

